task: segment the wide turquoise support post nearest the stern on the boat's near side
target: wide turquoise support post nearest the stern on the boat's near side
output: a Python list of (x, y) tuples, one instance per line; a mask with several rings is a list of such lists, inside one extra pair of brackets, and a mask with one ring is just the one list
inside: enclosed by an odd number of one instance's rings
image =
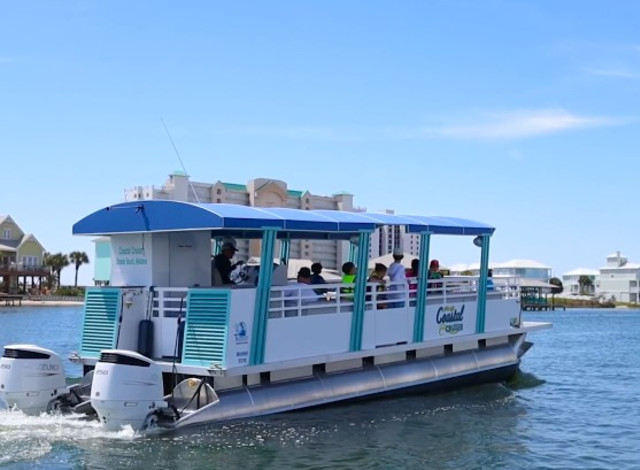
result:
[(251, 365), (262, 364), (264, 362), (276, 234), (276, 229), (265, 229), (262, 233), (260, 273), (258, 275), (258, 286), (256, 288), (256, 304), (253, 310), (253, 329), (251, 333)]

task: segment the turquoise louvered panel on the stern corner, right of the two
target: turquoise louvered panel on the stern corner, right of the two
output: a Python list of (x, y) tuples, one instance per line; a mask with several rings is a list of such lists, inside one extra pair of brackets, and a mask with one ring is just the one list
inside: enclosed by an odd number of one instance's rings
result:
[(182, 346), (182, 364), (225, 366), (231, 292), (189, 289)]

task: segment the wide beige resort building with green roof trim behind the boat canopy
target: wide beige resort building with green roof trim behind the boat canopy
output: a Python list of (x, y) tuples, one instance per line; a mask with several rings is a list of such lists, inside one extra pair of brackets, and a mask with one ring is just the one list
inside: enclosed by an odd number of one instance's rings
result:
[[(229, 203), (252, 207), (289, 207), (294, 209), (327, 209), (360, 212), (354, 207), (353, 195), (340, 192), (331, 196), (312, 194), (309, 191), (289, 189), (280, 180), (257, 178), (247, 184), (199, 183), (191, 181), (183, 172), (169, 175), (165, 183), (155, 186), (135, 186), (125, 190), (125, 201), (167, 199), (201, 203)], [(260, 242), (237, 240), (238, 259), (247, 260), (260, 253)], [(276, 250), (278, 248), (276, 247)], [(277, 251), (276, 251), (277, 253)], [(349, 244), (328, 240), (292, 240), (290, 258), (319, 261), (327, 269), (340, 269), (348, 260)]]

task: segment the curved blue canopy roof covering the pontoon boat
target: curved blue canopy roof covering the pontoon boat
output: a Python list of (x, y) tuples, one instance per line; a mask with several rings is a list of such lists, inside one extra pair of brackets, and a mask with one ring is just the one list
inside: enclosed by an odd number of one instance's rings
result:
[(348, 239), (382, 225), (402, 225), (408, 232), (448, 235), (492, 234), (494, 228), (454, 217), (425, 217), (237, 204), (194, 204), (148, 200), (100, 209), (73, 226), (75, 235), (212, 230), (215, 234), (255, 238), (273, 228), (292, 238)]

